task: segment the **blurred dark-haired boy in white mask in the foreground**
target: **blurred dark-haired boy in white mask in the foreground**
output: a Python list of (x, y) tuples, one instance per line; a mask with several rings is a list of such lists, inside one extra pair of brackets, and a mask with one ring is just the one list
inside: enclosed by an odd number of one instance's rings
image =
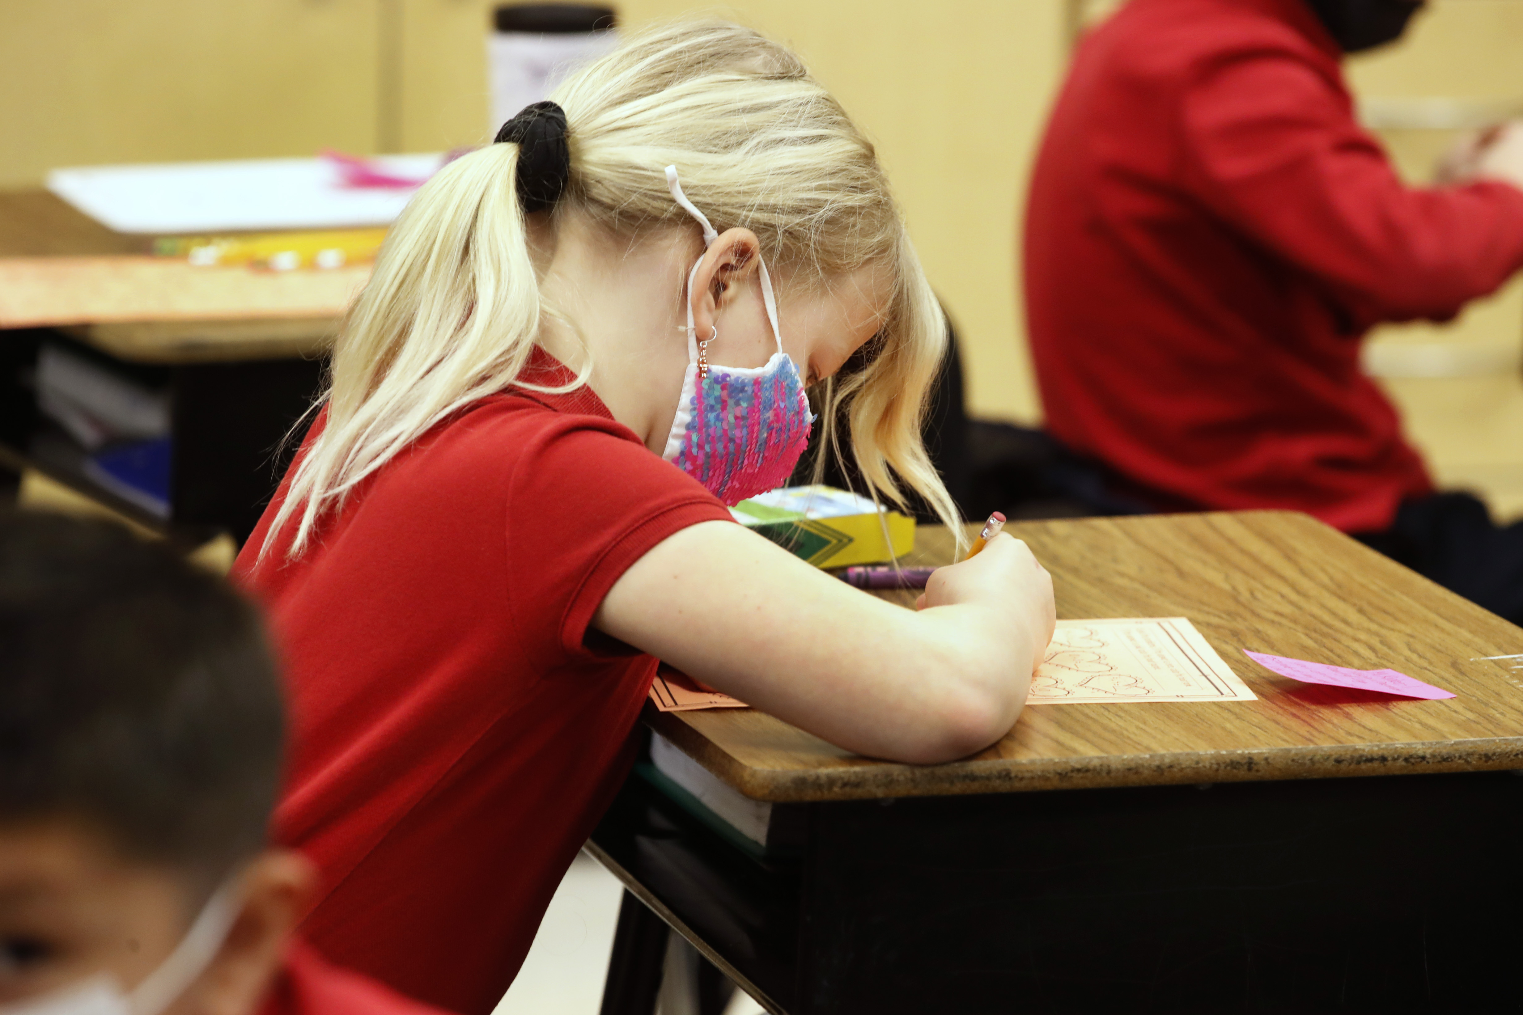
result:
[(0, 1013), (429, 1015), (292, 943), (254, 610), (108, 523), (0, 516)]

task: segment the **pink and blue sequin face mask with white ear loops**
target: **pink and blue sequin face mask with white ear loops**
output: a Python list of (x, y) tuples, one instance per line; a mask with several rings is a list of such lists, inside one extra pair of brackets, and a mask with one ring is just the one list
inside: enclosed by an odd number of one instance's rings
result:
[[(719, 239), (704, 213), (682, 193), (676, 166), (667, 166), (667, 187), (672, 198), (704, 227), (704, 247)], [(772, 338), (777, 339), (777, 352), (763, 367), (710, 364), (705, 347), (713, 335), (698, 341), (693, 301), (688, 298), (687, 374), (682, 377), (682, 397), (676, 406), (676, 418), (672, 420), (672, 434), (661, 455), (725, 504), (740, 504), (787, 482), (809, 446), (809, 431), (815, 423), (798, 367), (783, 352), (772, 277), (760, 259), (757, 265), (762, 301), (766, 304)], [(698, 265), (693, 265), (687, 275), (690, 297), (696, 274)]]

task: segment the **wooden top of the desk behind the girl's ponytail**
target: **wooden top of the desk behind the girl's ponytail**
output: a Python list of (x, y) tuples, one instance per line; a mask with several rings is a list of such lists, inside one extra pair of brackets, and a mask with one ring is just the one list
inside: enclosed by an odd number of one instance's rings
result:
[(0, 329), (61, 327), (140, 362), (315, 356), (370, 277), (200, 268), (149, 245), (47, 192), (0, 193)]

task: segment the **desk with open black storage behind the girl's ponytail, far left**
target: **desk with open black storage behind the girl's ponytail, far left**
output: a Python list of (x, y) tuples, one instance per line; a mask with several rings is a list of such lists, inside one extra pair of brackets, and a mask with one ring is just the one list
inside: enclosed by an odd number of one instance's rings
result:
[[(274, 490), (282, 438), (317, 393), (338, 320), (369, 266), (270, 272), (146, 256), (46, 192), (0, 193), (0, 464), (55, 481), (183, 542), (242, 542)], [(26, 387), (50, 335), (168, 385), (171, 517), (94, 484), (84, 450)]]

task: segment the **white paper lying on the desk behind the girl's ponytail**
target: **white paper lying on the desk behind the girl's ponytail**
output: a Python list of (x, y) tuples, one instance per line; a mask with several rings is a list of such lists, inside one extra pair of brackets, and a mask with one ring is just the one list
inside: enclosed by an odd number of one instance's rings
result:
[[(378, 170), (423, 178), (443, 154), (379, 155)], [(413, 190), (344, 187), (324, 158), (81, 166), (47, 189), (117, 233), (213, 233), (390, 225)]]

